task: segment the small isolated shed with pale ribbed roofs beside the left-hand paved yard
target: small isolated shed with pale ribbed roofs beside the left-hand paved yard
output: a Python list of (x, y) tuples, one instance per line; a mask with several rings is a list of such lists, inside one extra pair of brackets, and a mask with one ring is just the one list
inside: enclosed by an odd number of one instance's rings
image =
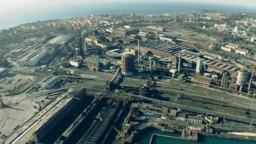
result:
[(44, 80), (42, 80), (39, 85), (41, 85), (42, 88), (51, 89), (53, 88), (59, 81), (61, 80), (60, 75), (50, 75), (46, 77)]

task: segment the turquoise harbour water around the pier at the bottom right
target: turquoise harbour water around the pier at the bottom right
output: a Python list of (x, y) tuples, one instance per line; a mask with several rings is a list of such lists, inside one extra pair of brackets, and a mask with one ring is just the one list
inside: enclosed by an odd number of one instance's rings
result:
[[(180, 137), (181, 133), (168, 133), (161, 130), (148, 130), (141, 133), (141, 137), (138, 141), (139, 144), (149, 144), (152, 134), (162, 134), (167, 136), (176, 136)], [(235, 139), (221, 139), (221, 138), (214, 138), (210, 136), (199, 136), (198, 141), (186, 141), (180, 139), (171, 139), (161, 136), (155, 136), (152, 139), (151, 144), (256, 144), (255, 141), (241, 141)]]

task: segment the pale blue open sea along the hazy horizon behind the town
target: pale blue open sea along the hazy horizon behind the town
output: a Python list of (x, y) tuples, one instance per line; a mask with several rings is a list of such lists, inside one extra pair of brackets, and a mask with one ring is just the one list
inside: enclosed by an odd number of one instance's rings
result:
[(35, 22), (37, 20), (69, 19), (83, 17), (90, 14), (117, 14), (117, 13), (197, 13), (203, 9), (218, 10), (224, 13), (256, 13), (256, 8), (239, 5), (224, 5), (217, 3), (191, 2), (119, 2), (119, 3), (91, 3), (83, 5), (53, 5), (45, 8), (34, 8), (33, 11), (6, 12), (0, 14), (0, 29), (16, 27), (19, 24)]

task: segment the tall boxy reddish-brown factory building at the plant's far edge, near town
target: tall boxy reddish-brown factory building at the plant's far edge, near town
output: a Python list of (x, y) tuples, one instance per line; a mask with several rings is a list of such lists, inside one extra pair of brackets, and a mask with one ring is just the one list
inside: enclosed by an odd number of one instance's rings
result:
[(113, 29), (113, 33), (119, 37), (127, 37), (128, 35), (138, 34), (139, 29), (135, 27), (120, 27)]

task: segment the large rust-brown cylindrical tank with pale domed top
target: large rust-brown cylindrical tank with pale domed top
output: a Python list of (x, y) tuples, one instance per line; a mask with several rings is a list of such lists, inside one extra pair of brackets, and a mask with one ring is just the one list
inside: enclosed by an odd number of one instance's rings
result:
[(134, 56), (132, 53), (124, 53), (121, 57), (123, 75), (133, 75)]

